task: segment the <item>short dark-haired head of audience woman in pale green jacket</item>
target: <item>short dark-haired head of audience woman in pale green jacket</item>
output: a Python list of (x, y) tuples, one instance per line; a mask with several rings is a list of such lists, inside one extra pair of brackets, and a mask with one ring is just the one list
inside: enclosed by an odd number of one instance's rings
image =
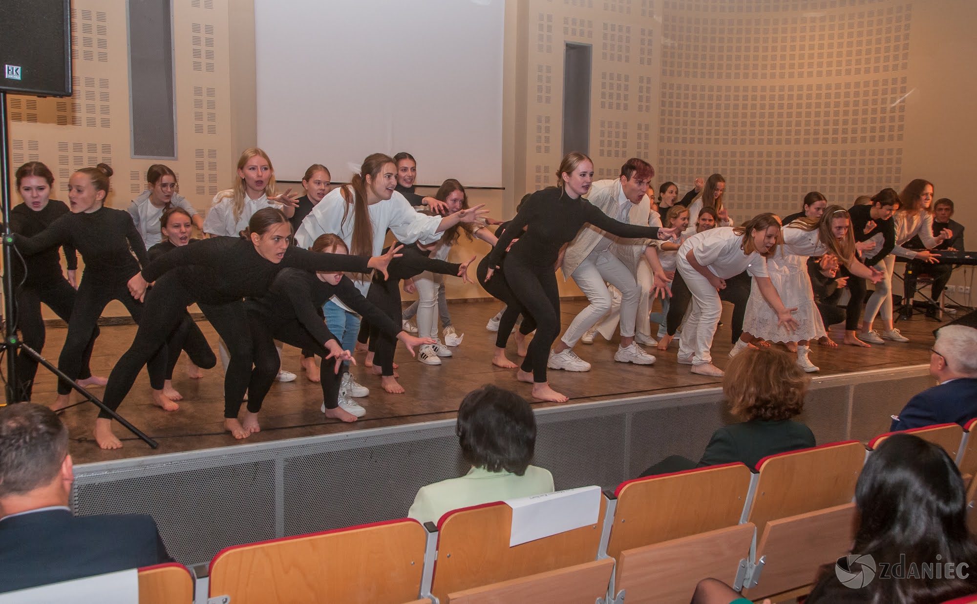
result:
[(469, 392), (455, 424), (465, 461), (489, 472), (526, 473), (536, 445), (536, 418), (526, 399), (485, 385)]

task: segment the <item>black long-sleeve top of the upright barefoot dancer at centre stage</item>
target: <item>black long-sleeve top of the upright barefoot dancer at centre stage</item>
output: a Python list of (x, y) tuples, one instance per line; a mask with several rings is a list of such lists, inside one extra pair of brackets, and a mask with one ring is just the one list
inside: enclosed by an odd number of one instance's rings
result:
[[(552, 266), (563, 244), (572, 241), (588, 223), (617, 237), (658, 238), (658, 227), (618, 222), (583, 197), (572, 199), (563, 189), (551, 187), (535, 192), (523, 204), (489, 252), (488, 266), (498, 268), (506, 248), (516, 237), (519, 240), (509, 254), (517, 255), (527, 264)], [(522, 233), (523, 229), (526, 233)]]

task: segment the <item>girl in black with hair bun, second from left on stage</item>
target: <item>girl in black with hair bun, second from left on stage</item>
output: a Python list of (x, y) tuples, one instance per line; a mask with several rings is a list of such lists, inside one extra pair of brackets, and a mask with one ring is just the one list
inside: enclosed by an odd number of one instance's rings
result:
[[(68, 182), (71, 213), (64, 214), (34, 237), (15, 235), (14, 239), (24, 256), (70, 244), (85, 261), (84, 279), (78, 286), (58, 360), (58, 368), (71, 379), (77, 379), (81, 372), (85, 350), (108, 302), (118, 300), (137, 324), (143, 320), (143, 305), (128, 295), (126, 281), (139, 273), (140, 265), (146, 265), (146, 246), (129, 212), (103, 205), (111, 175), (112, 169), (104, 163), (78, 170)], [(177, 410), (179, 406), (163, 395), (166, 351), (154, 351), (159, 352), (162, 354), (147, 358), (152, 402), (163, 410)], [(70, 385), (59, 381), (58, 399), (53, 409), (66, 407), (70, 392)]]

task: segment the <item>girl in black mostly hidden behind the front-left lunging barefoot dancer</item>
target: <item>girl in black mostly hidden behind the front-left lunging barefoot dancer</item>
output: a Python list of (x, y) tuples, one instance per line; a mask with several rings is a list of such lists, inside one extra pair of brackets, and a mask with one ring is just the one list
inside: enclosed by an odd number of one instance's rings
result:
[[(179, 246), (196, 243), (199, 239), (191, 239), (192, 217), (190, 212), (182, 207), (173, 206), (163, 212), (159, 219), (160, 231), (163, 240), (156, 243), (147, 251), (149, 262), (162, 256), (166, 252), (176, 249)], [(209, 369), (217, 365), (217, 357), (207, 343), (200, 327), (190, 316), (185, 313), (180, 325), (170, 335), (166, 342), (166, 381), (163, 384), (163, 394), (172, 401), (183, 400), (183, 395), (173, 387), (173, 369), (180, 360), (180, 353), (186, 351), (190, 357), (190, 367), (187, 373), (194, 379), (203, 377), (200, 369)]]

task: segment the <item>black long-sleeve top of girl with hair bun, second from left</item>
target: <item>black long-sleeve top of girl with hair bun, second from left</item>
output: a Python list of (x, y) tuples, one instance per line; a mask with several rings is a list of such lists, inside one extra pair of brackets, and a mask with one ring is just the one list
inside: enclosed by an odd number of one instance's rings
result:
[(64, 214), (34, 237), (14, 236), (21, 254), (33, 255), (72, 245), (85, 261), (85, 278), (102, 281), (129, 280), (146, 266), (143, 237), (132, 216), (124, 210), (101, 207), (94, 212)]

